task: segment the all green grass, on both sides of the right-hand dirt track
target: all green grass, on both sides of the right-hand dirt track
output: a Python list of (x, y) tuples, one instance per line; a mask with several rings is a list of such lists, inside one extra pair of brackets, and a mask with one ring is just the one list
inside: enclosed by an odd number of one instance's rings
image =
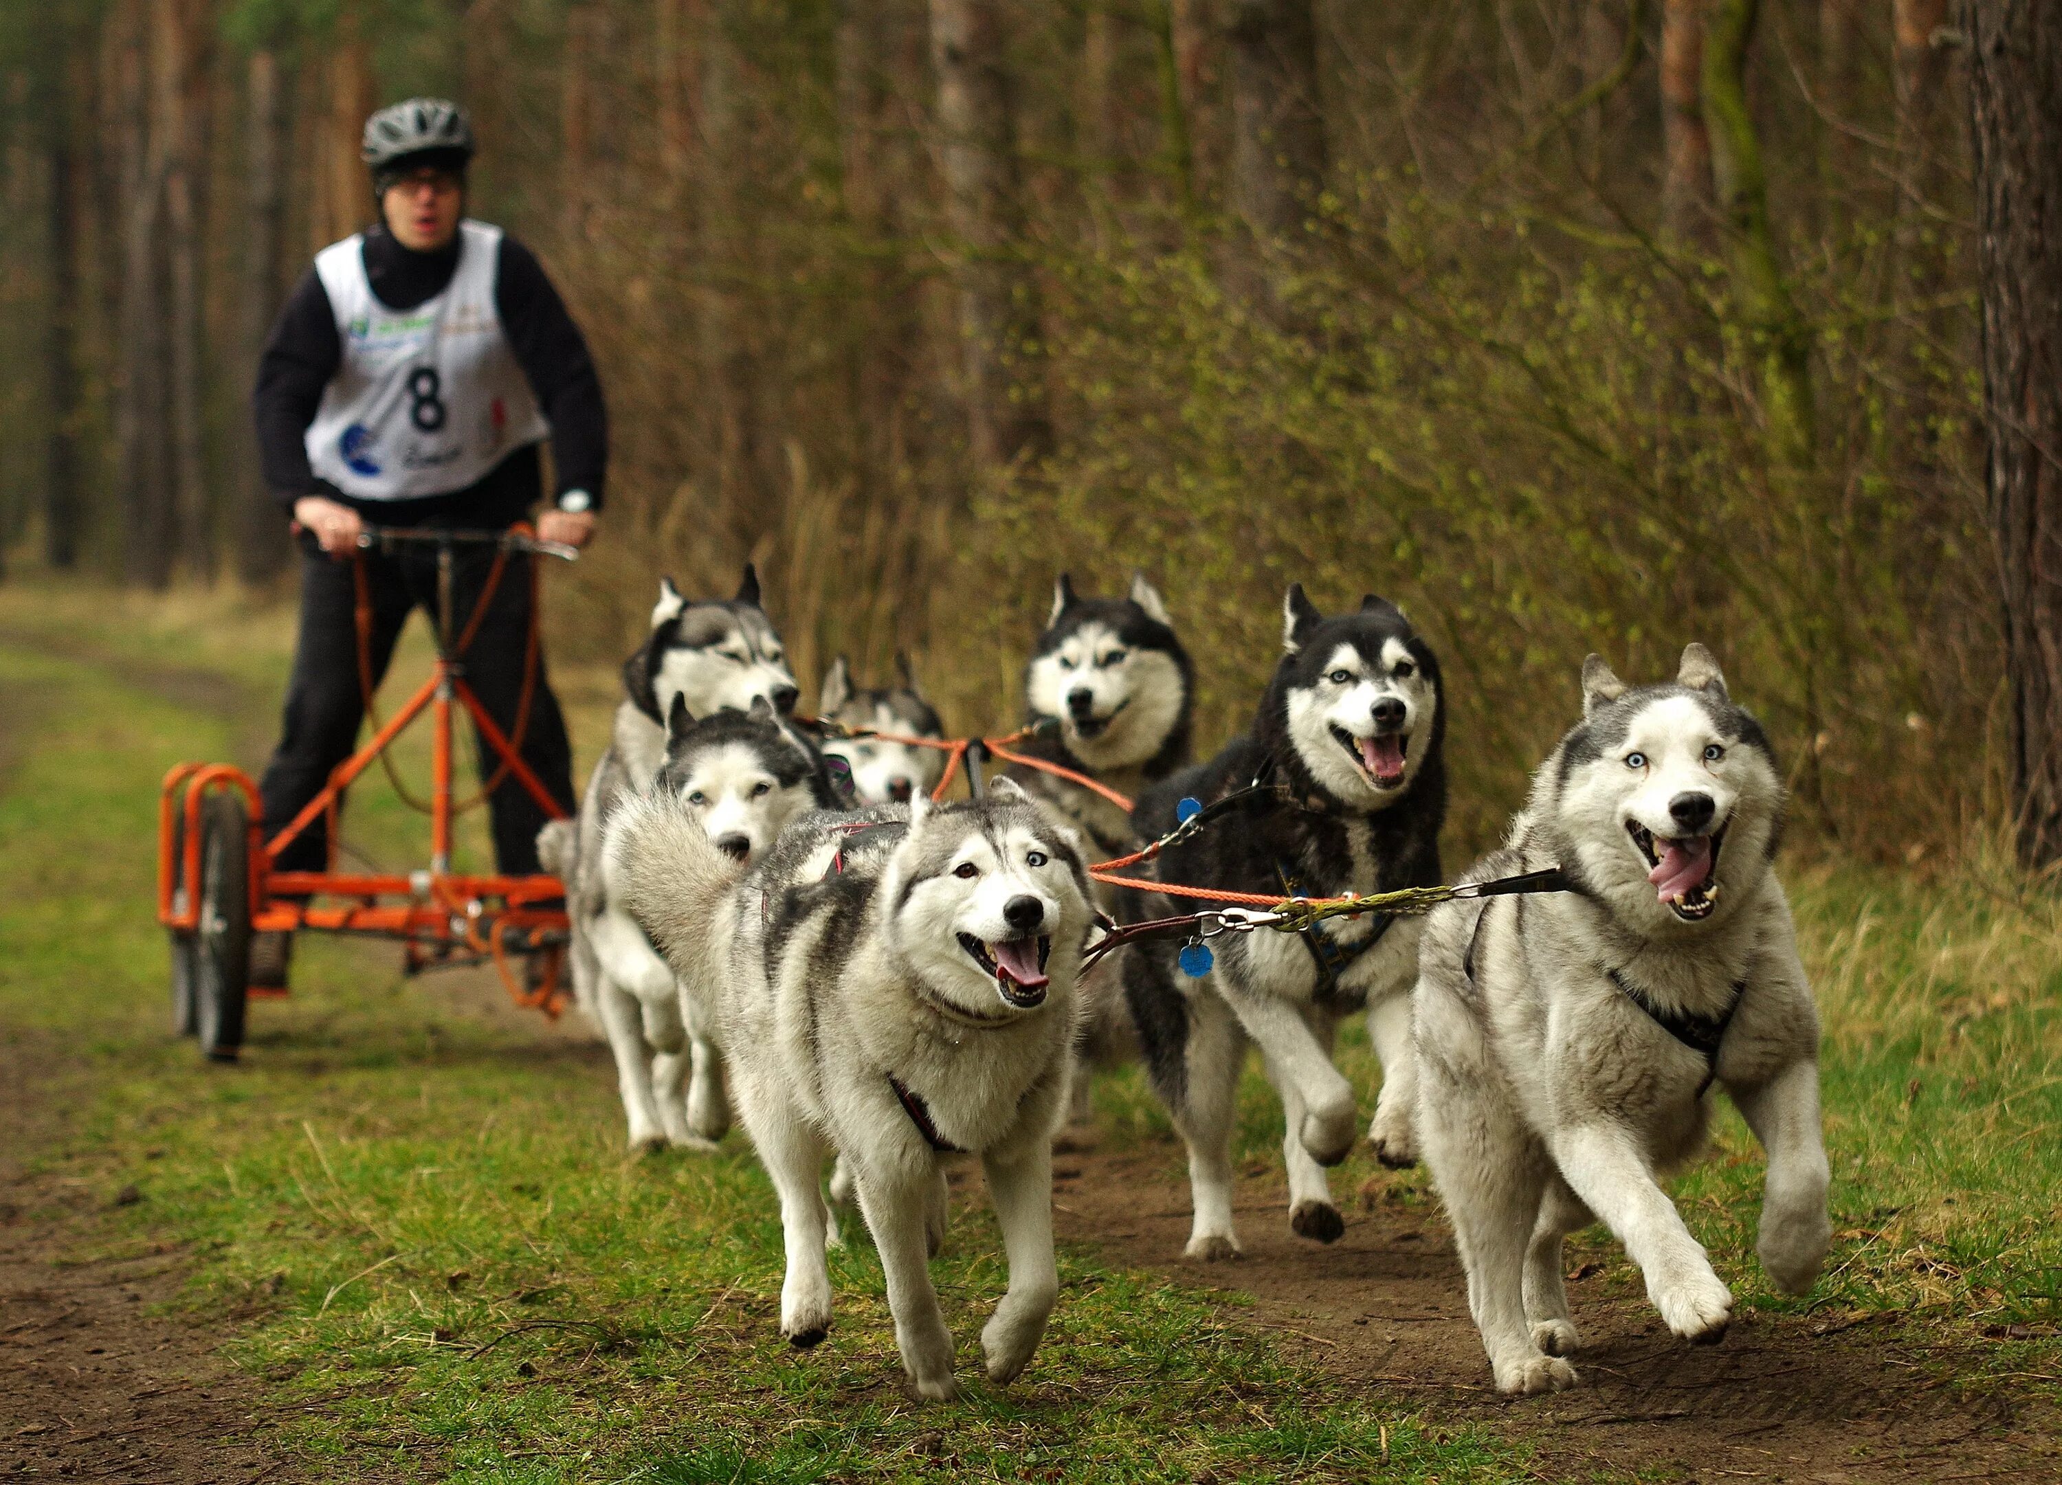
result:
[[(777, 1339), (779, 1233), (740, 1141), (625, 1159), (600, 1048), (468, 1013), (404, 982), (386, 947), (311, 940), (297, 994), (254, 1013), (250, 1054), (204, 1068), (167, 1035), (148, 914), (159, 773), (262, 745), (291, 631), (231, 602), (0, 592), (0, 1035), (74, 1048), (78, 1122), (58, 1174), (144, 1200), (95, 1242), (179, 1244), (186, 1304), (235, 1320), (235, 1359), (282, 1402), (311, 1473), (464, 1481), (1522, 1479), (1524, 1450), (1349, 1390), (1221, 1299), (1095, 1254), (1027, 1376), (979, 1380), (973, 1334), (1002, 1289), (977, 1202), (936, 1264), (967, 1396), (899, 1386), (872, 1250), (833, 1258), (837, 1324)], [(103, 656), (93, 660), (91, 656)], [(410, 660), (408, 656), (414, 656)], [(402, 674), (421, 648), (404, 652)], [(165, 666), (237, 676), (247, 707), (184, 697)], [(575, 695), (606, 697), (606, 685)], [(600, 714), (575, 718), (590, 747)], [(421, 749), (417, 778), (421, 778)], [(476, 831), (476, 821), (468, 823)], [(351, 837), (406, 862), (421, 825), (381, 782)], [(468, 837), (478, 850), (478, 835)], [(1747, 1310), (1812, 1308), (1947, 1347), (1951, 1365), (2054, 1394), (2062, 1374), (2062, 910), (2006, 870), (1792, 868), (1827, 1019), (1835, 1252), (1808, 1299), (1753, 1262), (1761, 1159), (1722, 1114), (1685, 1217)], [(1373, 1085), (1365, 1037), (1342, 1058)], [(1281, 1112), (1250, 1079), (1241, 1155), (1274, 1159)], [(1142, 1087), (1099, 1089), (1111, 1130), (1163, 1132)], [(1169, 1155), (1171, 1159), (1171, 1155)], [(1431, 1200), (1361, 1157), (1338, 1190)], [(1637, 1291), (1617, 1246), (1579, 1258)]]

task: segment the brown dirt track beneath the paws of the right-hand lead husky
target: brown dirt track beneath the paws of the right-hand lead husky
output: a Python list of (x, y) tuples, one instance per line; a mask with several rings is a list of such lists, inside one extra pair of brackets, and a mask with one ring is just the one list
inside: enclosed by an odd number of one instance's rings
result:
[(1254, 1318), (1285, 1347), (1427, 1419), (1532, 1442), (1546, 1479), (1598, 1466), (1711, 1481), (2062, 1479), (2052, 1415), (1959, 1396), (1955, 1357), (1887, 1339), (1889, 1326), (1749, 1316), (1722, 1345), (1687, 1347), (1643, 1299), (1577, 1281), (1584, 1386), (1507, 1402), (1489, 1386), (1460, 1260), (1435, 1215), (1377, 1202), (1349, 1211), (1344, 1238), (1320, 1248), (1289, 1231), (1270, 1161), (1239, 1178), (1245, 1256), (1200, 1264), (1179, 1258), (1190, 1207), (1171, 1143), (1060, 1155), (1056, 1172), (1062, 1238), (1252, 1295)]

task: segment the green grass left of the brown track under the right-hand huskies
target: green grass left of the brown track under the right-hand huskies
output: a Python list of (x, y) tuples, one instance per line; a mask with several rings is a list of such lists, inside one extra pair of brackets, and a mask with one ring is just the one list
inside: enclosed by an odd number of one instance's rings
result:
[[(1349, 1392), (1221, 1301), (1087, 1252), (1062, 1254), (1031, 1372), (988, 1386), (973, 1334), (1004, 1270), (975, 1202), (934, 1268), (961, 1402), (905, 1400), (864, 1242), (833, 1260), (831, 1339), (792, 1353), (773, 1202), (742, 1143), (625, 1159), (600, 1048), (468, 1015), (435, 980), (402, 982), (388, 949), (303, 945), (297, 994), (256, 1009), (245, 1062), (200, 1066), (167, 1035), (148, 914), (157, 778), (264, 736), (291, 633), (262, 610), (49, 590), (0, 594), (0, 710), (25, 720), (0, 788), (0, 1033), (85, 1062), (47, 1163), (140, 1188), (93, 1240), (192, 1256), (186, 1304), (233, 1318), (235, 1359), (318, 1477), (1522, 1477), (1524, 1450)], [(196, 707), (171, 664), (237, 674), (258, 710)], [(406, 860), (419, 829), (359, 790), (367, 854)]]

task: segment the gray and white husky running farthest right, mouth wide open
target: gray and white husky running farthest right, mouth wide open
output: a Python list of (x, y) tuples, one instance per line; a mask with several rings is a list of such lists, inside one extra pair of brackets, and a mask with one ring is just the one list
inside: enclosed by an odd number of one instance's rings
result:
[(1724, 1087), (1769, 1153), (1761, 1264), (1804, 1293), (1825, 1258), (1819, 1015), (1771, 860), (1784, 788), (1703, 646), (1674, 685), (1598, 656), (1584, 720), (1472, 881), (1559, 866), (1567, 893), (1431, 914), (1415, 994), (1419, 1124), (1503, 1392), (1575, 1380), (1561, 1238), (1602, 1221), (1685, 1341), (1732, 1293), (1658, 1174)]

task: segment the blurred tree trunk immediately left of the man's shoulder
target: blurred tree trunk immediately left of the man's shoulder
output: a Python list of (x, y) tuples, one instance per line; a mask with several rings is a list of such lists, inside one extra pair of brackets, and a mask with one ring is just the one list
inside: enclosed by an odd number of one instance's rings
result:
[[(252, 384), (258, 357), (272, 330), (272, 316), (278, 314), (280, 241), (285, 237), (278, 54), (258, 47), (243, 72), (243, 204), (247, 219), (243, 223), (241, 357), (235, 377), (239, 392)], [(237, 429), (233, 446), (237, 476), (231, 481), (231, 489), (237, 491), (237, 571), (243, 582), (256, 584), (276, 578), (291, 549), (287, 524), (272, 503), (272, 491), (264, 485), (264, 470), (258, 468), (258, 439), (250, 415), (241, 410), (241, 400), (239, 396), (239, 417), (231, 419), (231, 427)]]

